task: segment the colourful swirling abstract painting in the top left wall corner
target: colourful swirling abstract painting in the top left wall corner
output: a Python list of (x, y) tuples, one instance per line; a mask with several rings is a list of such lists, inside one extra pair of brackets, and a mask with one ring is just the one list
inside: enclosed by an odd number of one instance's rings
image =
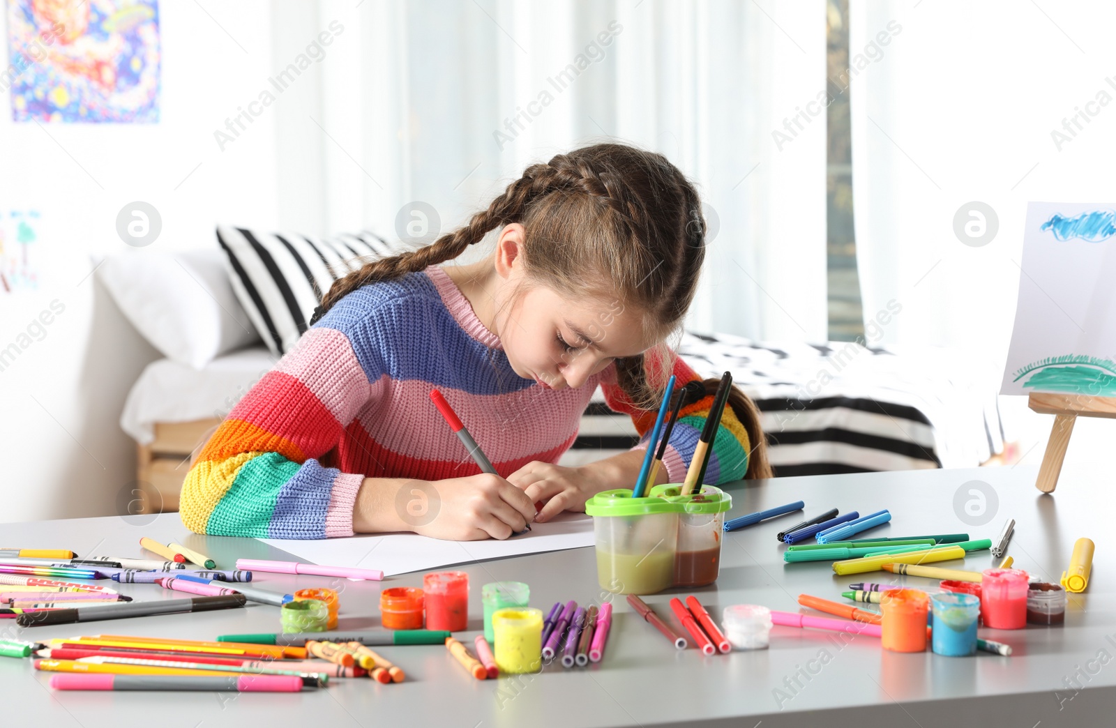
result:
[(157, 0), (7, 0), (17, 122), (158, 122)]

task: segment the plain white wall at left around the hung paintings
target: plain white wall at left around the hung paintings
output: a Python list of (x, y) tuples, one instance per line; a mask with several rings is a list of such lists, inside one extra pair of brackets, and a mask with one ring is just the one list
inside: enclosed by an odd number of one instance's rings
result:
[[(277, 70), (271, 6), (164, 1), (160, 13), (157, 124), (15, 124), (0, 95), (0, 210), (41, 212), (45, 274), (37, 291), (0, 294), (0, 347), (51, 301), (62, 307), (0, 372), (0, 521), (112, 514), (135, 478), (135, 443), (117, 422), (132, 382), (158, 354), (89, 275), (90, 256), (209, 247), (218, 220), (278, 220), (273, 115), (223, 151), (213, 137)], [(116, 234), (117, 212), (135, 200), (162, 217), (146, 248)]]

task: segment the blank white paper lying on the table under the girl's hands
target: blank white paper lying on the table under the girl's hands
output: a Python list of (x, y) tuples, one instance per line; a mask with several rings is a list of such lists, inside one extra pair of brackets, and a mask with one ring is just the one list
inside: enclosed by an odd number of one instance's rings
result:
[(531, 530), (504, 540), (455, 542), (419, 536), (386, 534), (316, 540), (262, 538), (267, 544), (294, 554), (305, 562), (327, 566), (376, 568), (385, 576), (425, 572), (454, 564), (488, 558), (541, 554), (567, 548), (593, 546), (593, 518), (565, 513), (546, 524), (531, 524)]

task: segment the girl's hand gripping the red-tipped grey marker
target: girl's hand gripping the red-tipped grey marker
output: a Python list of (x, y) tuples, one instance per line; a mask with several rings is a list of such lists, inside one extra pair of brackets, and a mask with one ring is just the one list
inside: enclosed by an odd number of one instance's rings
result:
[(437, 515), (413, 530), (451, 540), (508, 538), (535, 518), (535, 501), (500, 476), (481, 472), (465, 478), (430, 482), (437, 498)]

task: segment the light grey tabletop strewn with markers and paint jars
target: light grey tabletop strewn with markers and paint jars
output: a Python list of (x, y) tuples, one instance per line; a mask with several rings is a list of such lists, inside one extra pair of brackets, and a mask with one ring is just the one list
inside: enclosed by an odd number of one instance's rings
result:
[[(805, 500), (806, 517), (828, 508), (862, 514), (887, 508), (893, 520), (874, 536), (968, 531), (995, 538), (1008, 517), (1016, 533), (1008, 553), (1014, 566), (1057, 581), (1069, 563), (1076, 538), (1096, 543), (1088, 591), (1070, 595), (1065, 625), (1026, 630), (989, 630), (981, 636), (1014, 649), (1004, 658), (979, 653), (946, 658), (931, 652), (899, 654), (881, 649), (873, 638), (847, 644), (834, 633), (775, 628), (768, 650), (704, 657), (695, 649), (676, 651), (635, 614), (623, 597), (612, 597), (615, 617), (605, 659), (589, 668), (549, 665), (539, 674), (478, 681), (442, 646), (384, 648), (402, 667), (403, 683), (333, 680), (327, 689), (282, 693), (56, 692), (49, 673), (37, 673), (27, 660), (0, 659), (0, 705), (9, 719), (28, 718), (52, 727), (119, 728), (157, 722), (167, 728), (237, 726), (249, 720), (290, 725), (319, 720), (330, 728), (383, 726), (574, 726), (733, 725), (772, 726), (988, 725), (1035, 728), (1040, 725), (1108, 725), (1116, 706), (1116, 588), (1108, 582), (1105, 556), (1113, 552), (1112, 502), (1107, 482), (1062, 476), (1054, 495), (1035, 489), (1037, 468), (924, 470), (783, 478), (738, 482), (731, 516)], [(978, 496), (971, 491), (980, 491)], [(775, 534), (801, 520), (802, 513), (728, 534), (721, 575), (693, 591), (714, 619), (729, 604), (763, 604), (798, 611), (800, 593), (843, 601), (840, 592), (860, 576), (838, 577), (828, 562), (785, 564), (785, 547)], [(219, 567), (237, 558), (288, 558), (283, 552), (249, 538), (189, 534), (175, 514), (0, 524), (0, 544), (71, 548), (80, 555), (138, 555), (140, 536), (164, 543), (180, 540), (209, 554)], [(964, 568), (992, 564), (988, 550), (965, 558)], [(961, 567), (959, 562), (946, 566)], [(556, 601), (579, 604), (609, 598), (596, 579), (591, 548), (473, 563), (469, 573), (470, 632), (481, 629), (480, 585), (499, 579), (530, 584), (531, 604), (548, 610)], [(868, 574), (864, 581), (936, 585), (920, 577)], [(291, 592), (306, 586), (341, 588), (341, 629), (379, 626), (379, 590), (421, 586), (421, 574), (377, 582), (338, 582), (314, 576), (259, 574), (253, 584)], [(122, 584), (137, 600), (170, 598), (154, 585)], [(670, 616), (672, 590), (645, 597)], [(173, 596), (179, 596), (174, 594)], [(862, 605), (864, 606), (864, 605)], [(810, 610), (802, 609), (804, 612)], [(278, 631), (278, 607), (113, 620), (80, 625), (20, 630), (0, 625), (4, 635), (49, 639), (77, 634), (143, 634), (212, 640), (218, 634)]]

